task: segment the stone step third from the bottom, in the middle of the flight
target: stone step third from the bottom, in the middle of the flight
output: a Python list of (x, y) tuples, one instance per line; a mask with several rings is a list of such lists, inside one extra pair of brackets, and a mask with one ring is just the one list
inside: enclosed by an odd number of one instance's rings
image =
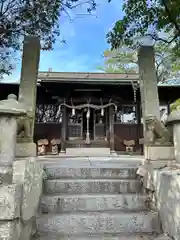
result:
[(42, 213), (75, 211), (138, 211), (148, 209), (148, 196), (137, 194), (44, 195), (40, 202)]

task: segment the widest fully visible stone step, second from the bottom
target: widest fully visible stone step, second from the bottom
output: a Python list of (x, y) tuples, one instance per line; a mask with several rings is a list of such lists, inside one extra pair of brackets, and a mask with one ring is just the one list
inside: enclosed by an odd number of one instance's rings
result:
[(47, 234), (160, 233), (156, 212), (76, 212), (42, 215), (36, 219), (37, 231)]

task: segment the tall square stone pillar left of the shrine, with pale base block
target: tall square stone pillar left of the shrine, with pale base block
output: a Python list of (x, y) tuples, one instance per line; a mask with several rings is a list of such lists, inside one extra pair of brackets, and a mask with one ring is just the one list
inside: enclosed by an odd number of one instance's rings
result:
[(24, 104), (27, 110), (27, 118), (24, 119), (26, 130), (24, 135), (19, 133), (17, 138), (17, 156), (35, 156), (36, 145), (33, 143), (37, 76), (40, 56), (40, 39), (28, 36), (24, 38), (21, 81), (19, 87), (19, 102)]

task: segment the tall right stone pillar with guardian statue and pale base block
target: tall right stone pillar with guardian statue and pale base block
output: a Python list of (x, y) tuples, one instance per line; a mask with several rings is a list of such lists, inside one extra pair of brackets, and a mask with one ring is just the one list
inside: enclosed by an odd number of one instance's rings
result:
[(147, 160), (172, 160), (174, 150), (168, 130), (161, 123), (153, 46), (138, 52), (140, 92), (144, 126), (144, 154)]

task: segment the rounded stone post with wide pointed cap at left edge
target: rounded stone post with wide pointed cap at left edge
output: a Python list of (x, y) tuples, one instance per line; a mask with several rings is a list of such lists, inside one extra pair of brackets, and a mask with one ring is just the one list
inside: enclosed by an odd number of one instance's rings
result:
[(0, 180), (12, 183), (12, 164), (15, 159), (17, 117), (25, 116), (26, 111), (10, 94), (7, 100), (0, 101)]

